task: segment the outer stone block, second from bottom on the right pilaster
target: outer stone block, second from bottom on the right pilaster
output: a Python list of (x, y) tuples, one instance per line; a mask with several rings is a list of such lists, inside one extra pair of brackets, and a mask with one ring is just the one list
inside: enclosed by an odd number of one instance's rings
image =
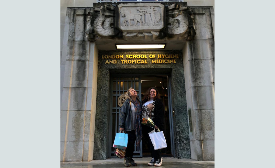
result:
[(215, 140), (214, 110), (201, 110), (201, 132), (203, 140)]

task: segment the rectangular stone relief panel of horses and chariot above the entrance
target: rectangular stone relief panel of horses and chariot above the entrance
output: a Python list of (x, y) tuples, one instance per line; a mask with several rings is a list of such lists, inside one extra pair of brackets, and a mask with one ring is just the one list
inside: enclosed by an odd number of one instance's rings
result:
[(122, 32), (160, 31), (165, 27), (165, 6), (160, 3), (126, 3), (116, 8), (116, 28)]

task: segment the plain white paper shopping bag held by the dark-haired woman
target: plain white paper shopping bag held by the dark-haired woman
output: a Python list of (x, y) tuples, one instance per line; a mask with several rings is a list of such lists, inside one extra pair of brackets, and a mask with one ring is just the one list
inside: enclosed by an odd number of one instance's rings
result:
[(167, 144), (166, 144), (166, 140), (165, 140), (163, 131), (155, 132), (155, 130), (152, 130), (148, 134), (149, 134), (149, 137), (152, 141), (152, 144), (153, 144), (155, 150), (167, 148)]

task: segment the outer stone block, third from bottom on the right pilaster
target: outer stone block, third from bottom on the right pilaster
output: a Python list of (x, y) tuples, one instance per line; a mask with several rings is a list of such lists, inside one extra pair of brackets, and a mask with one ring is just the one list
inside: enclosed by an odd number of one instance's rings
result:
[(214, 86), (197, 86), (199, 109), (212, 110), (214, 108)]

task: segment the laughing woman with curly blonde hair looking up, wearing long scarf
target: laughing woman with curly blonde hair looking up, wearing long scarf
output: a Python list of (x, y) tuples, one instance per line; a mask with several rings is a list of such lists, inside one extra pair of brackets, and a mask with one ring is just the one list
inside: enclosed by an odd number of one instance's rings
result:
[(141, 129), (141, 102), (137, 91), (134, 88), (129, 88), (125, 95), (125, 102), (119, 111), (119, 130), (126, 131), (128, 134), (128, 144), (124, 158), (124, 165), (137, 166), (133, 160), (135, 141), (137, 151), (140, 151), (140, 142), (142, 140)]

